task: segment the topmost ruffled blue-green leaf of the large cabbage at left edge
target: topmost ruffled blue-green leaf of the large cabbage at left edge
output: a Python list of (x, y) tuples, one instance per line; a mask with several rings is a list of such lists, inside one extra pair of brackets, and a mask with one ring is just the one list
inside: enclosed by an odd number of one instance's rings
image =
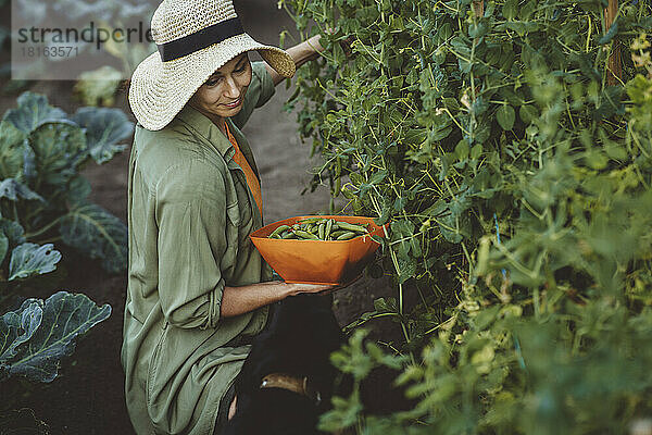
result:
[(48, 97), (26, 91), (17, 98), (17, 109), (10, 109), (2, 121), (12, 123), (24, 133), (32, 133), (36, 127), (48, 121), (65, 119), (63, 110), (48, 104)]

